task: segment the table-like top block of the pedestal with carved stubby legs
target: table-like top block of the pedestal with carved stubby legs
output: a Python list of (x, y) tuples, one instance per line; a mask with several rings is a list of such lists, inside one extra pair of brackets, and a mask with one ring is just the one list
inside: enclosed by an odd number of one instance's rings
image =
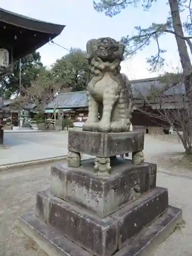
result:
[(132, 162), (144, 161), (142, 150), (144, 133), (99, 133), (72, 129), (68, 137), (68, 165), (80, 167), (80, 153), (96, 156), (93, 168), (99, 175), (108, 176), (112, 172), (111, 160), (117, 155), (133, 152)]

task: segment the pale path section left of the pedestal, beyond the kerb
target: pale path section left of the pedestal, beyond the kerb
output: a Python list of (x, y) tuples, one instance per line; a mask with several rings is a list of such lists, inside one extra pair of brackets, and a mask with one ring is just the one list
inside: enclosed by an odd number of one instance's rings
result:
[(67, 132), (5, 133), (0, 165), (67, 155)]

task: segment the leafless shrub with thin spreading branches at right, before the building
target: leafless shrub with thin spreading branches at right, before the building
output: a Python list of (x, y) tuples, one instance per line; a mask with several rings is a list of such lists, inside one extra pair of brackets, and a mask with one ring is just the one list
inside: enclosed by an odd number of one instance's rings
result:
[[(184, 76), (179, 76), (180, 81), (178, 80), (177, 86), (183, 82)], [(166, 76), (164, 77), (166, 79)], [(150, 106), (150, 111), (146, 111), (146, 108), (143, 109), (143, 106), (137, 107), (137, 110), (151, 118), (159, 126), (160, 120), (164, 123), (165, 126), (172, 127), (173, 130), (177, 133), (186, 152), (191, 150), (191, 136), (189, 131), (190, 123), (188, 122), (188, 101), (186, 93), (181, 93), (180, 91), (172, 90), (167, 94), (167, 89), (172, 85), (170, 84), (170, 77), (167, 79), (167, 84), (162, 85), (161, 89), (153, 88), (151, 92), (147, 95), (140, 92), (140, 98), (143, 98), (145, 106)], [(159, 86), (158, 86), (159, 87)], [(172, 86), (172, 88), (174, 88)], [(153, 100), (152, 100), (153, 99)], [(152, 103), (153, 102), (153, 103)], [(162, 124), (163, 125), (163, 124)], [(180, 133), (182, 131), (182, 134)]]

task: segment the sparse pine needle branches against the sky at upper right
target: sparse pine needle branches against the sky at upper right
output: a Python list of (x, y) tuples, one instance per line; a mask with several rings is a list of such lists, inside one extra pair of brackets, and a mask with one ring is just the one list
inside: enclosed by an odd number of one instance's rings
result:
[[(137, 7), (141, 5), (144, 10), (149, 10), (152, 4), (157, 2), (157, 0), (95, 0), (94, 8), (97, 12), (104, 12), (106, 16), (113, 17), (114, 15), (119, 14), (122, 10), (128, 8), (130, 5)], [(188, 9), (189, 15), (187, 16), (186, 22), (183, 24), (183, 28), (192, 35), (192, 1), (187, 0), (174, 0), (172, 5), (174, 7), (178, 6), (179, 12)], [(170, 1), (168, 2), (170, 5)], [(187, 4), (188, 3), (188, 4)], [(150, 64), (150, 70), (155, 71), (164, 66), (164, 57), (163, 53), (166, 52), (165, 49), (161, 49), (159, 45), (160, 36), (165, 33), (174, 34), (180, 36), (184, 40), (186, 40), (189, 47), (191, 47), (192, 53), (192, 44), (190, 42), (190, 38), (187, 36), (182, 36), (181, 33), (178, 35), (177, 31), (174, 30), (173, 26), (173, 18), (169, 16), (167, 13), (167, 21), (163, 24), (155, 24), (148, 28), (141, 28), (140, 26), (135, 27), (134, 35), (127, 35), (121, 38), (121, 41), (125, 44), (125, 56), (132, 57), (137, 53), (138, 50), (143, 50), (146, 46), (149, 46), (153, 40), (157, 43), (157, 52), (153, 54), (151, 57), (146, 59), (147, 63)], [(176, 13), (174, 15), (179, 15)], [(192, 37), (191, 37), (192, 38)], [(184, 41), (185, 43), (185, 41)], [(178, 49), (180, 50), (180, 49)], [(183, 53), (184, 54), (184, 53)], [(181, 54), (180, 54), (181, 56)]]

